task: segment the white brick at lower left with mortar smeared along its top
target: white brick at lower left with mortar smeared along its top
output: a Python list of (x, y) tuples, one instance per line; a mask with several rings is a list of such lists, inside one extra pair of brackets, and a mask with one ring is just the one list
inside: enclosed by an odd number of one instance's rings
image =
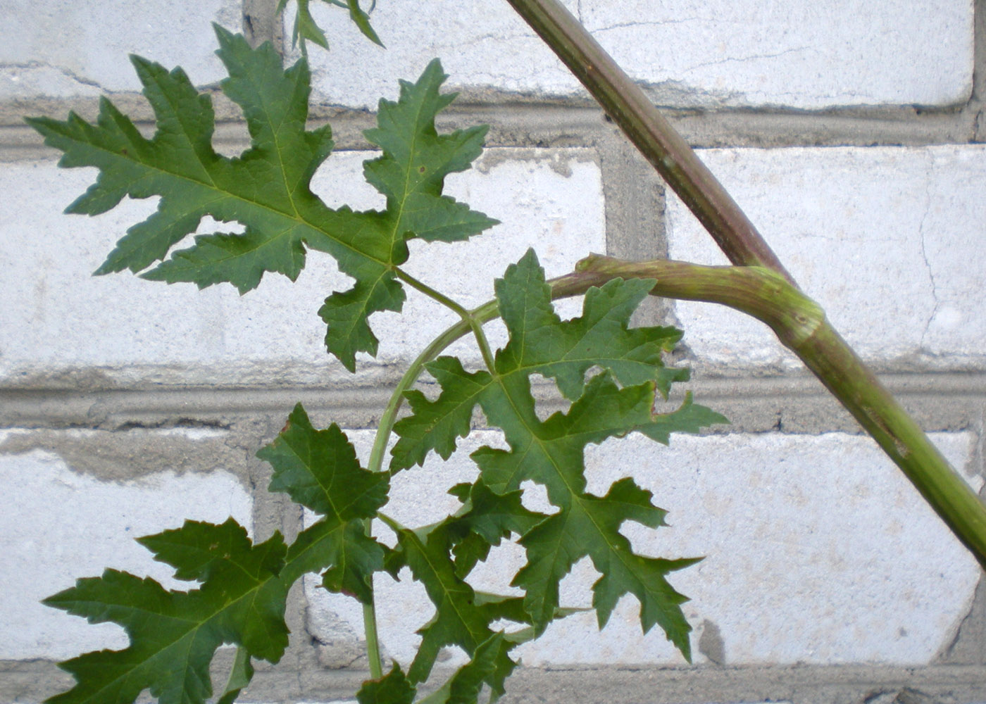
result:
[(222, 523), (232, 516), (247, 529), (252, 525), (249, 493), (222, 468), (113, 482), (35, 450), (0, 455), (0, 495), (7, 502), (0, 512), (0, 660), (65, 659), (126, 647), (118, 626), (90, 625), (39, 600), (106, 567), (187, 590), (189, 583), (172, 579), (172, 568), (155, 562), (134, 538), (177, 528), (185, 519)]

